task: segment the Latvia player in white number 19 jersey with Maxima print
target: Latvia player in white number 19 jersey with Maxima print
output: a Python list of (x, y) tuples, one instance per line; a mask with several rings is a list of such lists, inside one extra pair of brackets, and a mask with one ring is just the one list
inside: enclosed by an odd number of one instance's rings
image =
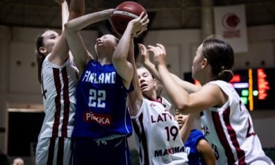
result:
[(156, 80), (144, 67), (137, 69), (133, 50), (128, 59), (134, 68), (134, 90), (128, 95), (128, 107), (140, 164), (187, 164), (178, 123), (157, 100)]

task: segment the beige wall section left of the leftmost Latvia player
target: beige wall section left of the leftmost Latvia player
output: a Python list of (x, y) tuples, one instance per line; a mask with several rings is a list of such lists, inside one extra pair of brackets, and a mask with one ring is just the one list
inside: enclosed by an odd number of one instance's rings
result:
[[(9, 103), (42, 103), (37, 78), (35, 40), (44, 29), (12, 28), (10, 43), (8, 101)], [(18, 63), (21, 64), (18, 64)]]

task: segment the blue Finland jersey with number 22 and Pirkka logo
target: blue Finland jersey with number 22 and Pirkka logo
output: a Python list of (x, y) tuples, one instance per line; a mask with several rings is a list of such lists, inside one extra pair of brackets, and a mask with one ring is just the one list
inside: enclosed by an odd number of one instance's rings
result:
[(113, 64), (91, 60), (78, 82), (76, 119), (72, 137), (100, 139), (132, 134), (131, 117), (126, 107), (129, 92)]

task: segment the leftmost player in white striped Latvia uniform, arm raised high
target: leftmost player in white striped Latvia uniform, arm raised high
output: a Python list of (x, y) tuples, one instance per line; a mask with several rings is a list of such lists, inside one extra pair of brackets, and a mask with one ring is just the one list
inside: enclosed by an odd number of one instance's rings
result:
[[(60, 0), (63, 22), (84, 13), (84, 1)], [(71, 135), (74, 128), (78, 70), (69, 57), (65, 33), (46, 31), (36, 42), (38, 80), (42, 85), (44, 122), (38, 137), (35, 164), (71, 164)]]

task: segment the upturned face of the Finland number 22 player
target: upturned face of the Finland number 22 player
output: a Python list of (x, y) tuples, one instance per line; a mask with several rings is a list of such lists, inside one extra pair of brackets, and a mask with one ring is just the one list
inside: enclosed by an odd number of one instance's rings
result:
[(117, 46), (117, 38), (113, 35), (103, 35), (100, 38), (97, 38), (97, 43), (95, 44), (95, 49), (101, 51), (103, 49), (115, 50)]

